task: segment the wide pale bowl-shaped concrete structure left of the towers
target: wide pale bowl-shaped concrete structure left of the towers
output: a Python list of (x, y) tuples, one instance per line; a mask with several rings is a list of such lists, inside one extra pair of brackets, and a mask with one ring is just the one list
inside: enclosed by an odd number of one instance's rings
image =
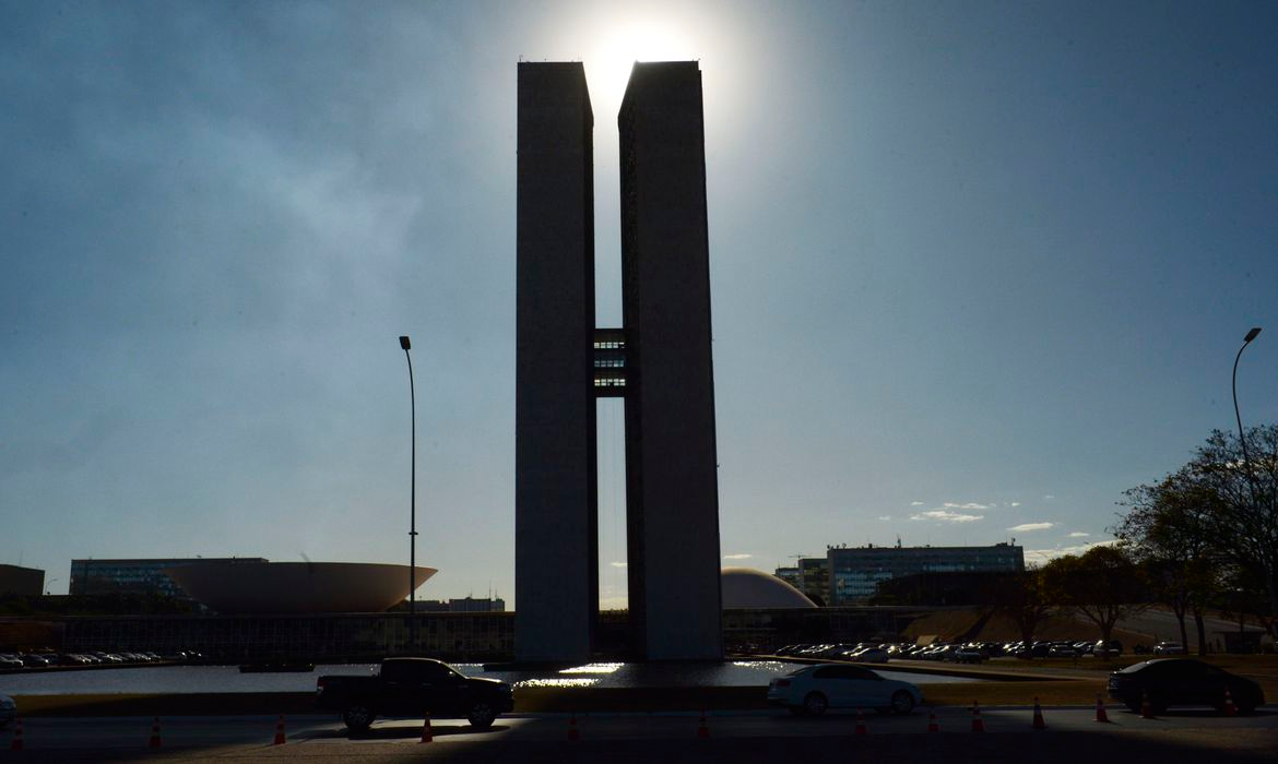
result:
[[(381, 613), (408, 597), (409, 567), (373, 562), (210, 562), (165, 574), (219, 613)], [(417, 569), (417, 585), (438, 572)]]

